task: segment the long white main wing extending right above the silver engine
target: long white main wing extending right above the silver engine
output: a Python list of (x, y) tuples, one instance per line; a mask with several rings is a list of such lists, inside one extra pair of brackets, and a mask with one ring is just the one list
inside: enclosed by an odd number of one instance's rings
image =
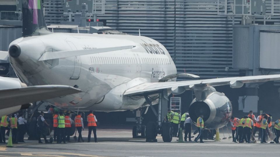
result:
[(142, 83), (129, 88), (124, 92), (124, 95), (134, 96), (141, 95), (147, 92), (154, 92), (160, 89), (169, 89), (182, 87), (184, 90), (193, 90), (196, 87), (206, 86), (219, 86), (230, 85), (231, 88), (241, 88), (244, 83), (253, 82), (265, 82), (280, 80), (280, 74), (277, 75), (259, 75), (259, 76), (244, 76), (244, 77), (228, 77), (217, 79), (205, 79), (205, 80), (190, 80), (190, 81), (178, 81), (178, 82), (156, 82), (156, 83)]

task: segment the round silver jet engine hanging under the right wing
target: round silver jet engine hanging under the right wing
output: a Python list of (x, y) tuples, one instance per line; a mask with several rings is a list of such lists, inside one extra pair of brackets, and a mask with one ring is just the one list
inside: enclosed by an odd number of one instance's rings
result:
[(194, 99), (190, 104), (189, 114), (195, 123), (202, 114), (206, 129), (221, 128), (230, 120), (232, 105), (224, 93), (212, 92), (203, 101)]

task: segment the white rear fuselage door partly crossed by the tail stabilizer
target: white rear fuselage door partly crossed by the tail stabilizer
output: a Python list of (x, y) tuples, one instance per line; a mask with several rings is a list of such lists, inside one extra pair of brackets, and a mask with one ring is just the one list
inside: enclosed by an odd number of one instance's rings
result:
[[(67, 41), (67, 43), (69, 44), (69, 46), (71, 47), (72, 50), (77, 50), (77, 48), (75, 47), (75, 45), (72, 42)], [(80, 73), (81, 73), (81, 64), (82, 64), (81, 56), (75, 56), (74, 57), (74, 71), (73, 71), (73, 74), (72, 74), (70, 80), (79, 79)]]

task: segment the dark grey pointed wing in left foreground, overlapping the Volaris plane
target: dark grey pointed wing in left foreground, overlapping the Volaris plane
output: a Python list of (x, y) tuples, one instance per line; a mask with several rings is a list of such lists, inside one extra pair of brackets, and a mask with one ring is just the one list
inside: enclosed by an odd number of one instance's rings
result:
[(81, 92), (68, 85), (37, 85), (0, 90), (0, 110)]

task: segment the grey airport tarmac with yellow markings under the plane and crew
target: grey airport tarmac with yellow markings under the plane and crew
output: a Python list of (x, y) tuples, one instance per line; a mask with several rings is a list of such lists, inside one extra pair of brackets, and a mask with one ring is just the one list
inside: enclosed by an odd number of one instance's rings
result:
[[(145, 142), (145, 139), (133, 139), (130, 128), (118, 127), (103, 128), (97, 130), (98, 143), (86, 142), (88, 130), (83, 131), (85, 142), (74, 142), (73, 137), (68, 144), (38, 144), (35, 140), (25, 140), (26, 143), (14, 144), (13, 148), (0, 145), (1, 156), (89, 156), (89, 157), (216, 157), (216, 156), (279, 156), (280, 144), (258, 143), (234, 143), (232, 139), (224, 139), (218, 142), (204, 140), (205, 143), (185, 142), (178, 143), (177, 138), (172, 142), (162, 141), (160, 135), (158, 142)], [(78, 136), (78, 135), (77, 135)], [(220, 134), (220, 138), (223, 134)], [(228, 133), (225, 134), (228, 137)], [(49, 137), (48, 137), (49, 138)], [(93, 136), (92, 136), (93, 138)], [(94, 141), (92, 139), (92, 141)]]

